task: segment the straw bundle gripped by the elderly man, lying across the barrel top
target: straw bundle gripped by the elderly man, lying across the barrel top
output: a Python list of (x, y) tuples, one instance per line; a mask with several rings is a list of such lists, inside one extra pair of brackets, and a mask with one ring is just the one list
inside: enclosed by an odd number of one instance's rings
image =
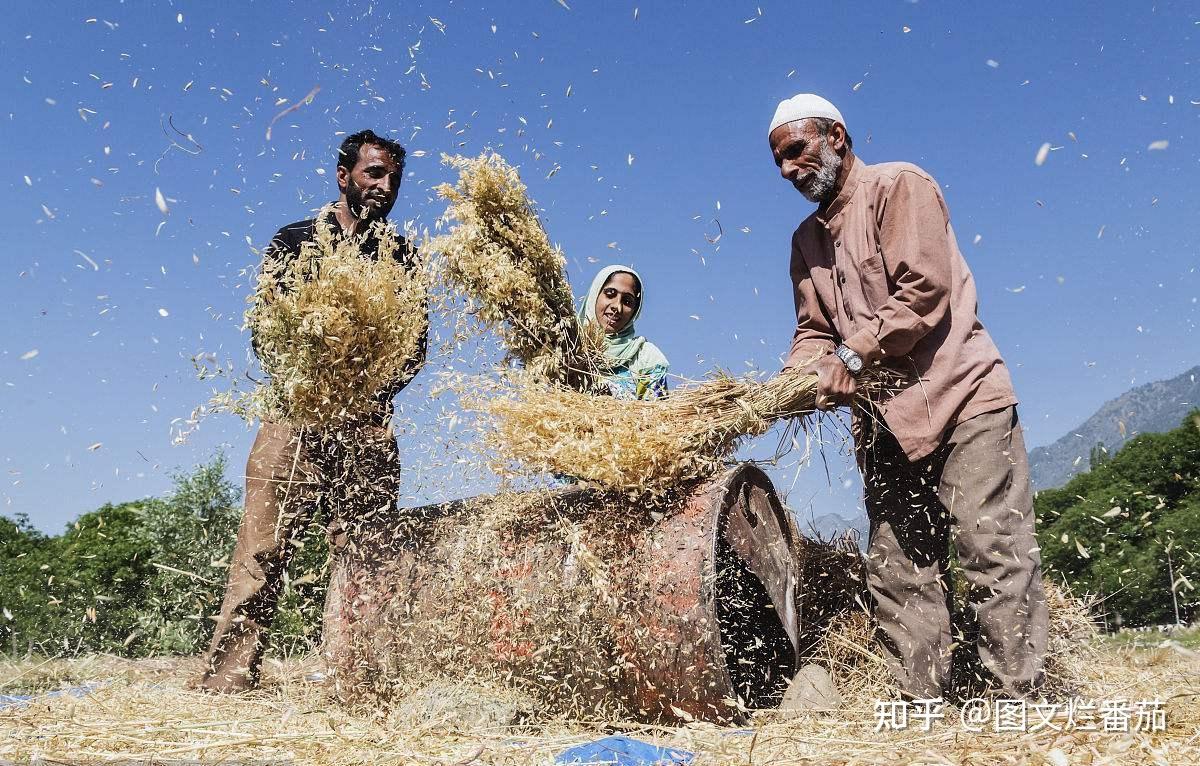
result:
[(712, 474), (738, 439), (811, 414), (816, 389), (815, 375), (766, 382), (722, 376), (665, 400), (624, 401), (516, 376), (498, 395), (479, 395), (467, 405), (486, 415), (487, 445), (504, 459), (608, 489), (659, 495)]

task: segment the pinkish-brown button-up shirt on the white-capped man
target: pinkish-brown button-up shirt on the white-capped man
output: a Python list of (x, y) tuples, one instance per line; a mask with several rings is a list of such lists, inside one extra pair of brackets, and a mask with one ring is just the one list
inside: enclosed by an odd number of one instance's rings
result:
[(850, 169), (836, 199), (792, 235), (796, 334), (785, 370), (839, 342), (902, 383), (878, 408), (910, 460), (947, 429), (1016, 403), (979, 322), (974, 279), (932, 178), (907, 162)]

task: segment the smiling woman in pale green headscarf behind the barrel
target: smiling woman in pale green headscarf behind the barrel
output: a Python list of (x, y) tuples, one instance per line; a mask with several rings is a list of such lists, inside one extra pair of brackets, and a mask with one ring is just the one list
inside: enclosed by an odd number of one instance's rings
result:
[(605, 381), (618, 399), (661, 399), (667, 395), (670, 363), (659, 347), (637, 335), (634, 322), (646, 300), (642, 277), (629, 267), (605, 267), (592, 280), (580, 309), (580, 322), (595, 322), (605, 331)]

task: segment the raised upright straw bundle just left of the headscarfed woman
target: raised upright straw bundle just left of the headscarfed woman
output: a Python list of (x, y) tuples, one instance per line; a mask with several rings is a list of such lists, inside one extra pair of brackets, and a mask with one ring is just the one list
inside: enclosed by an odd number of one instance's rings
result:
[(440, 279), (468, 298), (528, 371), (589, 388), (604, 337), (598, 328), (580, 328), (566, 261), (550, 243), (516, 169), (487, 152), (442, 161), (458, 170), (458, 182), (437, 187), (449, 202), (444, 220), (454, 223), (430, 243), (440, 253)]

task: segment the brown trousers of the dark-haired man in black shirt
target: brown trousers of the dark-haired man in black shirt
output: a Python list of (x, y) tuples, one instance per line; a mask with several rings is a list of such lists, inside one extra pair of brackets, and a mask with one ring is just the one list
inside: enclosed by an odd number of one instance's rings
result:
[(258, 684), (284, 575), (314, 515), (324, 511), (330, 552), (340, 555), (354, 545), (358, 522), (395, 505), (398, 463), (385, 426), (262, 424), (246, 461), (246, 510), (229, 581), (196, 686), (236, 692)]

